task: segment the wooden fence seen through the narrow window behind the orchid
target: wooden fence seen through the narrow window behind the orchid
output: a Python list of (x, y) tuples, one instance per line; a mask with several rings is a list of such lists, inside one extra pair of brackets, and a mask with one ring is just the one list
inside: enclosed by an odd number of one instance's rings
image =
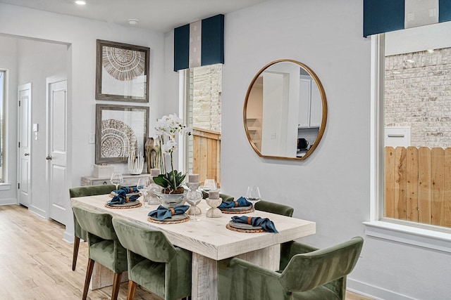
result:
[(203, 183), (206, 178), (221, 184), (221, 133), (194, 128), (192, 172), (199, 174)]

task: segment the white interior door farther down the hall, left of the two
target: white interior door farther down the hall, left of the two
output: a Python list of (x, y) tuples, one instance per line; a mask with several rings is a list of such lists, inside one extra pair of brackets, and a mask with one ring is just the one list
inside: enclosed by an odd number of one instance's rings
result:
[(31, 84), (18, 86), (18, 201), (31, 203)]

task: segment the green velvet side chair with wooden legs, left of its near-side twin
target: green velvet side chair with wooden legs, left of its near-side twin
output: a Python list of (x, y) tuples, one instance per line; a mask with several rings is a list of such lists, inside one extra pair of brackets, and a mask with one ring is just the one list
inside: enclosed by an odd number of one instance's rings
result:
[(111, 300), (118, 299), (121, 276), (127, 270), (127, 250), (119, 242), (114, 231), (111, 214), (101, 213), (83, 207), (79, 203), (72, 206), (73, 212), (83, 230), (87, 231), (89, 260), (86, 269), (85, 287), (82, 299), (87, 297), (94, 263), (100, 263), (114, 272)]

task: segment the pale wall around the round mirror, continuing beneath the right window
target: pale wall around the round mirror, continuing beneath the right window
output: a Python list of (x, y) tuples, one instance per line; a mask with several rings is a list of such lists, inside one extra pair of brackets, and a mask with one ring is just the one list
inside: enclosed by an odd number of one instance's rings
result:
[[(365, 237), (348, 287), (380, 299), (448, 299), (450, 255), (364, 235), (370, 203), (370, 41), (361, 0), (274, 0), (229, 13), (223, 66), (224, 193), (258, 184), (264, 199), (316, 221), (303, 242), (326, 247)], [(328, 100), (321, 143), (304, 162), (258, 157), (247, 142), (242, 105), (261, 67), (291, 58), (311, 67)], [(168, 86), (166, 82), (166, 86)]]

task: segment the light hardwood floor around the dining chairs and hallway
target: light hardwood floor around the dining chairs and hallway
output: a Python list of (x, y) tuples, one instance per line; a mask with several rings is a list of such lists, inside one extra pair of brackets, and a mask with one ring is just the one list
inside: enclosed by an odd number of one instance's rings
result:
[[(71, 269), (73, 244), (62, 240), (64, 226), (18, 205), (0, 206), (0, 299), (81, 299), (87, 243), (80, 242), (77, 268)], [(127, 298), (128, 282), (118, 299)], [(88, 299), (110, 299), (111, 287), (88, 292)], [(135, 300), (161, 299), (137, 287)], [(347, 292), (348, 300), (371, 300)]]

